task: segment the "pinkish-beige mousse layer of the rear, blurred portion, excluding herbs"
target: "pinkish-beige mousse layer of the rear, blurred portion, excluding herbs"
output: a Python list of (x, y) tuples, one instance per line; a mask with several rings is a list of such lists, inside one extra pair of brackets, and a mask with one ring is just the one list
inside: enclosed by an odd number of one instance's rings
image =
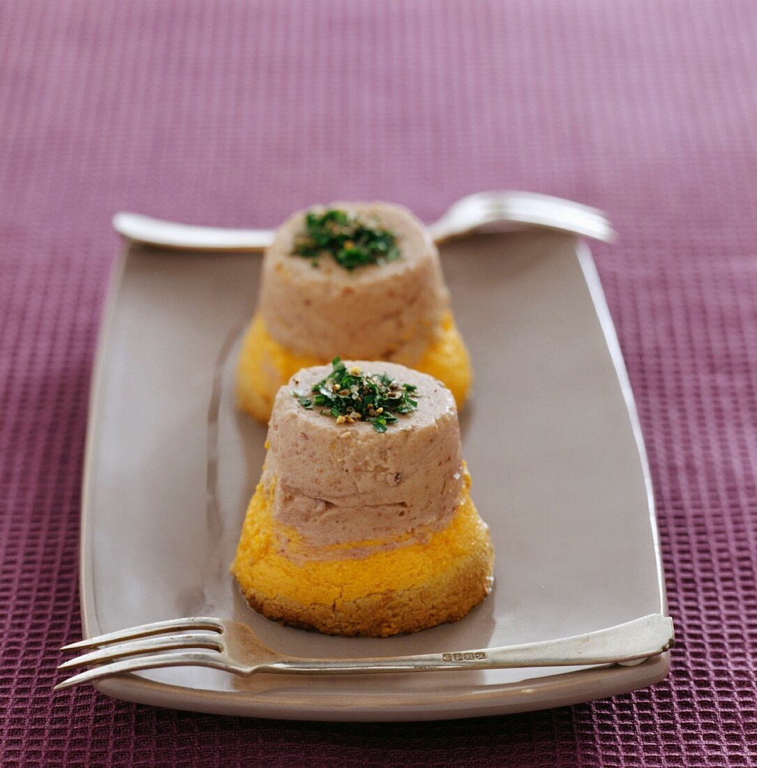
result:
[(407, 209), (332, 203), (395, 234), (400, 258), (350, 272), (330, 256), (293, 255), (311, 207), (289, 217), (263, 258), (259, 307), (269, 334), (296, 354), (388, 359), (412, 364), (438, 337), (448, 306), (438, 250)]

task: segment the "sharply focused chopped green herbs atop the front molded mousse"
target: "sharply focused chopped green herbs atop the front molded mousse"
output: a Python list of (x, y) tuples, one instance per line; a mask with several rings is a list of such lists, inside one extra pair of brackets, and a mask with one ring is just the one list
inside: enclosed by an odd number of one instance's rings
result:
[(398, 384), (385, 373), (364, 373), (359, 366), (348, 369), (339, 357), (331, 366), (329, 376), (313, 384), (312, 396), (292, 393), (303, 408), (319, 406), (337, 424), (362, 420), (371, 422), (376, 432), (386, 432), (387, 425), (397, 421), (395, 413), (410, 413), (418, 407), (413, 399), (417, 387), (412, 384)]

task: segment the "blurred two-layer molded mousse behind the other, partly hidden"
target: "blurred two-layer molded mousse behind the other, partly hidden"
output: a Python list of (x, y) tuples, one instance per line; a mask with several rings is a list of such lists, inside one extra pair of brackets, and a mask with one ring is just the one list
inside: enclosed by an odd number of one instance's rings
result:
[(267, 421), (280, 386), (336, 355), (426, 372), (445, 382), (458, 406), (468, 394), (471, 363), (438, 250), (405, 208), (335, 203), (279, 227), (243, 342), (240, 406)]

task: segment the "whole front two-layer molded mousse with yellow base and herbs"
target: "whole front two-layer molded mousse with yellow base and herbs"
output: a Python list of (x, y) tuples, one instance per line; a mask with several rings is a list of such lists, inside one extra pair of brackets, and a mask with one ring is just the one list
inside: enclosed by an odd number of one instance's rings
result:
[(491, 591), (455, 399), (385, 362), (299, 371), (279, 389), (232, 571), (266, 617), (386, 637), (458, 621)]

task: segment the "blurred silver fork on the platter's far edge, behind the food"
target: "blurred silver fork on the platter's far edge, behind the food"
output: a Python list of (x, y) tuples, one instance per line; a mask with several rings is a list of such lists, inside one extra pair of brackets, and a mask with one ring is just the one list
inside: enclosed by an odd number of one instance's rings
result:
[[(196, 227), (122, 211), (113, 217), (117, 233), (136, 243), (174, 250), (259, 252), (273, 240), (273, 230)], [(615, 232), (596, 208), (533, 192), (477, 192), (461, 197), (429, 225), (431, 237), (444, 243), (480, 230), (547, 227), (611, 242)]]

